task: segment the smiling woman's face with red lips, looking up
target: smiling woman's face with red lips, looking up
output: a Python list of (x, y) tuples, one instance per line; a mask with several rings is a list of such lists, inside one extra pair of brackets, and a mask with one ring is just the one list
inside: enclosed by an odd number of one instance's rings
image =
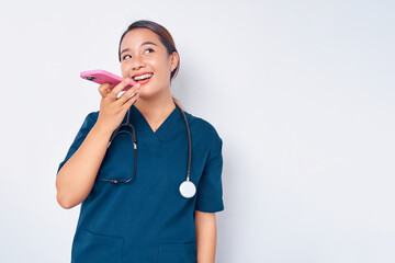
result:
[(134, 80), (140, 83), (139, 96), (142, 99), (159, 95), (163, 91), (170, 92), (170, 73), (177, 64), (177, 53), (169, 56), (159, 36), (150, 30), (132, 30), (122, 39), (122, 77), (153, 75), (146, 80)]

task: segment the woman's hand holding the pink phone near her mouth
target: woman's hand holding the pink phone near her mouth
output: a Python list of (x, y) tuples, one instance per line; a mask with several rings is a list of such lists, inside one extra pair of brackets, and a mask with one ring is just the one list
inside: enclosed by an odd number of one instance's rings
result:
[[(110, 83), (103, 83), (99, 87), (99, 92), (102, 95), (100, 102), (98, 126), (102, 129), (113, 133), (114, 129), (122, 123), (127, 110), (135, 103), (139, 96), (139, 83), (134, 84), (120, 98), (117, 94), (127, 85), (131, 79), (126, 78), (113, 89)], [(131, 95), (135, 93), (132, 98)]]

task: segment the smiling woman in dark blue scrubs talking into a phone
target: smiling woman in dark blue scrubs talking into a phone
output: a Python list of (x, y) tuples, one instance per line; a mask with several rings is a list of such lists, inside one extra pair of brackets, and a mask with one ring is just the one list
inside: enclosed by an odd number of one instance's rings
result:
[[(125, 80), (113, 89), (109, 83), (99, 87), (100, 111), (87, 115), (58, 168), (59, 205), (82, 203), (71, 261), (214, 262), (214, 213), (224, 209), (222, 139), (210, 123), (178, 108), (170, 82), (180, 58), (165, 27), (134, 22), (121, 37), (119, 58)], [(143, 75), (149, 79), (119, 96), (131, 78)], [(125, 133), (108, 148), (111, 135), (127, 122), (126, 113), (137, 137), (136, 156)], [(196, 192), (191, 198), (180, 193), (189, 162), (182, 113), (192, 144), (191, 182)]]

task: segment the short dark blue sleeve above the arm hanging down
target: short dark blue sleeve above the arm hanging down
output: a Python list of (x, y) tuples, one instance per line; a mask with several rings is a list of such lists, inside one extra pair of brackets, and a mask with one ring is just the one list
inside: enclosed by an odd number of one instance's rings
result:
[(222, 170), (223, 141), (218, 134), (214, 130), (212, 147), (208, 153), (206, 164), (203, 170), (202, 178), (199, 182), (196, 210), (205, 213), (216, 213), (224, 210)]

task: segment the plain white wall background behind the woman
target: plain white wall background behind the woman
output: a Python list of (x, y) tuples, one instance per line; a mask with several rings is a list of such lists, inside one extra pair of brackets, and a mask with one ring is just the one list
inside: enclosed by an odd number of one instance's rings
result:
[(55, 179), (117, 45), (147, 19), (173, 95), (224, 141), (217, 262), (395, 262), (394, 1), (3, 1), (0, 262), (69, 262)]

